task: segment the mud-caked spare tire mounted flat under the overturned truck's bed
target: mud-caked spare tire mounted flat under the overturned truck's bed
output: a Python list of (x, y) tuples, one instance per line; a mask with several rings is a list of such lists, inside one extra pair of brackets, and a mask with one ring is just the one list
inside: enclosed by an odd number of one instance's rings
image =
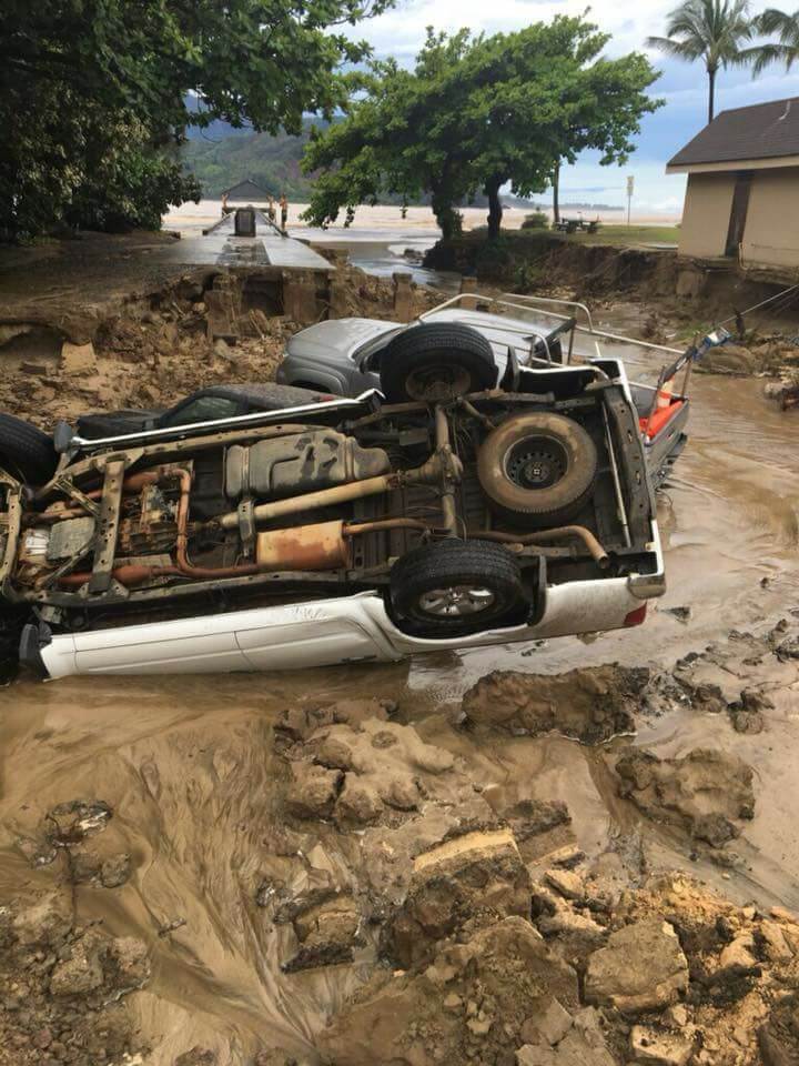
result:
[(534, 412), (512, 415), (488, 434), (477, 455), (477, 476), (493, 511), (543, 529), (580, 510), (597, 463), (594, 441), (578, 422)]

